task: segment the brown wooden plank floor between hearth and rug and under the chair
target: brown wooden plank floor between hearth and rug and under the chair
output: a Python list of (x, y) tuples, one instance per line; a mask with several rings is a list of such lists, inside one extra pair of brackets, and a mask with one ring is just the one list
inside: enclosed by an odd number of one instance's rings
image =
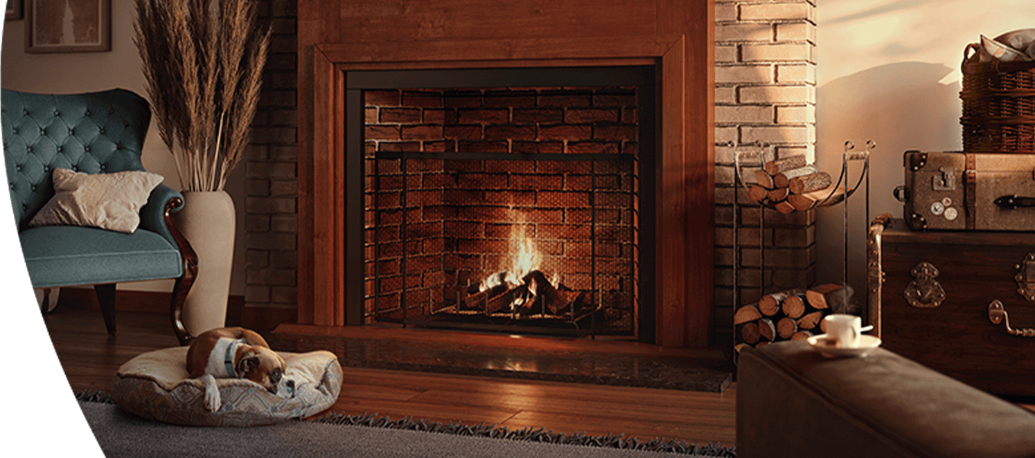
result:
[[(117, 319), (109, 336), (99, 310), (59, 307), (43, 317), (73, 392), (110, 391), (123, 363), (177, 345), (168, 315), (118, 312)], [(736, 396), (736, 384), (719, 394), (345, 368), (331, 410), (734, 447)]]

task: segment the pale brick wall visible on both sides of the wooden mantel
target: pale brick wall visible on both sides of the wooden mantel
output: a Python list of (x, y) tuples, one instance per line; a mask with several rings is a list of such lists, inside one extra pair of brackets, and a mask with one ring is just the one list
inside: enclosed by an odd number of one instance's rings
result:
[[(296, 4), (262, 0), (274, 26), (263, 100), (246, 159), (245, 306), (296, 303)], [(815, 1), (717, 0), (715, 5), (716, 340), (732, 345), (733, 154), (772, 148), (815, 154)], [(405, 113), (400, 114), (405, 116)], [(745, 206), (749, 201), (742, 197)], [(739, 241), (758, 240), (758, 208), (742, 208)], [(753, 228), (752, 228), (753, 226)], [(811, 212), (766, 213), (767, 288), (815, 278)], [(758, 244), (742, 252), (741, 302), (758, 297)]]

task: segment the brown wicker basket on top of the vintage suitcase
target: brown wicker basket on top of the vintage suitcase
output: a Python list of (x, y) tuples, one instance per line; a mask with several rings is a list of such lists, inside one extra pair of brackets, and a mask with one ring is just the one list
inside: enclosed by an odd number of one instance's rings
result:
[(978, 43), (964, 50), (964, 150), (1035, 153), (1035, 62), (981, 63), (980, 52)]

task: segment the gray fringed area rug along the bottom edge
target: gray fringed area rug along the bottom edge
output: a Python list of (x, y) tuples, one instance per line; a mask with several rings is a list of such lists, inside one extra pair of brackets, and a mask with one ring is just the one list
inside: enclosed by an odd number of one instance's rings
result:
[[(335, 415), (252, 428), (168, 425), (80, 394), (80, 409), (106, 457), (736, 457), (732, 449), (623, 437), (565, 436), (542, 429), (441, 424)], [(100, 402), (96, 402), (100, 401)], [(664, 451), (669, 450), (669, 451)]]

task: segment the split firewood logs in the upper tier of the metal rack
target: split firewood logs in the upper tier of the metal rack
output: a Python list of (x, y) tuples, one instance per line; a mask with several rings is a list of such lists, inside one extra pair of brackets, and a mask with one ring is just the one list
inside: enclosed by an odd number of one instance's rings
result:
[(780, 213), (805, 211), (845, 199), (845, 186), (835, 190), (830, 174), (806, 163), (802, 155), (766, 162), (755, 171), (755, 177), (758, 184), (748, 188), (747, 196), (769, 204)]

